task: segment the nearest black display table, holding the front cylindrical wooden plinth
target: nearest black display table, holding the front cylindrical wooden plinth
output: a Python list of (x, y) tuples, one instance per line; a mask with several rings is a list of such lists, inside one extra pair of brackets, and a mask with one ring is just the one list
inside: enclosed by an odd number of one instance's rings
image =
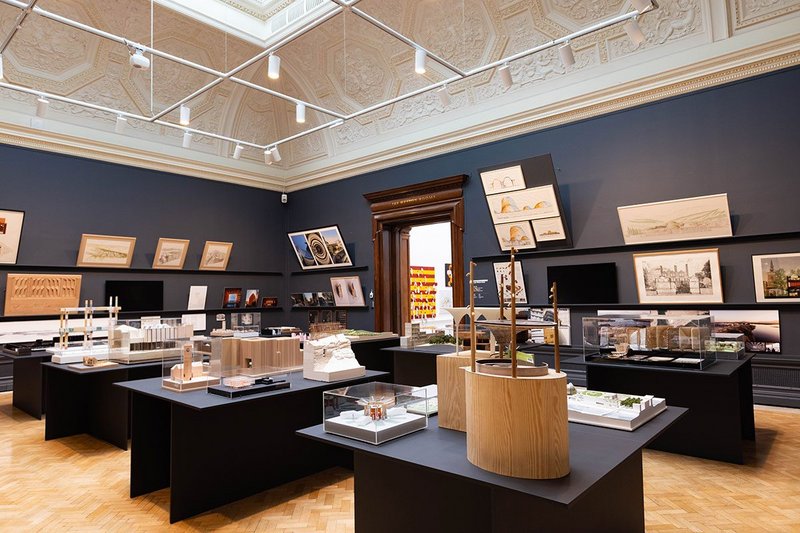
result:
[(466, 434), (428, 429), (380, 446), (298, 432), (355, 452), (356, 532), (644, 531), (642, 448), (686, 409), (669, 407), (634, 432), (569, 425), (570, 474), (500, 476), (467, 461)]

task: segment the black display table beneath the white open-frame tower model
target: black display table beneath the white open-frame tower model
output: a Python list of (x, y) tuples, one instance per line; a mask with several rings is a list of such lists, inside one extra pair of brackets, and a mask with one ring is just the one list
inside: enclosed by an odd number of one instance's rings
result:
[(44, 363), (46, 372), (44, 439), (88, 433), (128, 449), (130, 403), (119, 381), (161, 376), (161, 361), (78, 370), (72, 365)]

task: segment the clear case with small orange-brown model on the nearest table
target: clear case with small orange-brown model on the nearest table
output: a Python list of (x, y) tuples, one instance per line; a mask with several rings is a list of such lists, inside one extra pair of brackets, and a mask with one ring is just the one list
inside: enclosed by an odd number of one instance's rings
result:
[(364, 383), (325, 391), (322, 395), (326, 432), (381, 444), (428, 427), (428, 417), (409, 410), (427, 401), (422, 387)]

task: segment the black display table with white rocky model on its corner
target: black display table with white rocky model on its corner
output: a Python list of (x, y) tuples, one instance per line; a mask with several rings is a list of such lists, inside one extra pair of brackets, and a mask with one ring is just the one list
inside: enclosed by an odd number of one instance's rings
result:
[[(173, 392), (161, 379), (118, 383), (131, 393), (131, 498), (170, 488), (177, 522), (282, 483), (350, 463), (350, 454), (295, 435), (322, 422), (322, 392), (386, 372), (323, 383), (289, 374), (288, 389), (240, 398)], [(49, 415), (48, 415), (49, 416)]]

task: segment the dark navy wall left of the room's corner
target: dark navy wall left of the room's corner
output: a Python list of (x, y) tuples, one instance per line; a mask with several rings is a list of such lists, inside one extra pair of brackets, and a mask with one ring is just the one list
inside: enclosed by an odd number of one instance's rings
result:
[[(0, 209), (26, 212), (18, 265), (74, 266), (81, 234), (98, 233), (136, 237), (132, 268), (150, 269), (159, 237), (172, 237), (191, 240), (186, 270), (198, 268), (205, 241), (213, 240), (234, 243), (229, 271), (248, 272), (86, 269), (82, 299), (99, 305), (107, 279), (163, 279), (167, 310), (186, 308), (190, 285), (208, 285), (208, 308), (222, 306), (224, 287), (282, 292), (282, 276), (257, 274), (285, 269), (278, 193), (5, 145), (0, 169)], [(0, 276), (0, 290), (5, 283)]]

